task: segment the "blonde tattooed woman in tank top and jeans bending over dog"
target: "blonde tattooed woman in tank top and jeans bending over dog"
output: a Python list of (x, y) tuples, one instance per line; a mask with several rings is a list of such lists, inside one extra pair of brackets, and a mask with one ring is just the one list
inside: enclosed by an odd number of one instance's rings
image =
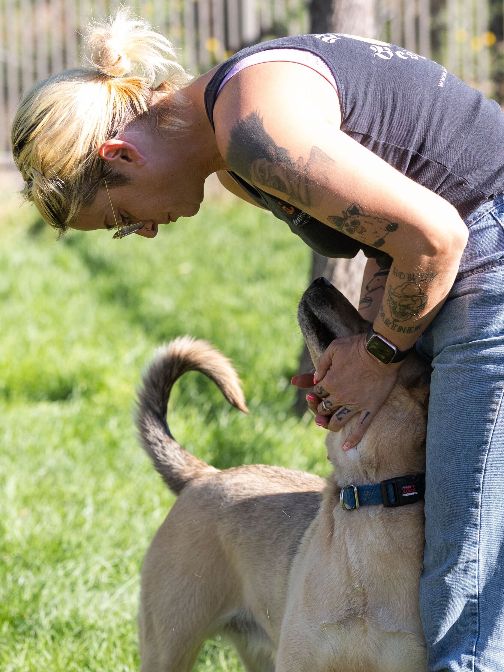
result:
[[(89, 69), (38, 83), (17, 111), (13, 155), (28, 200), (61, 234), (153, 238), (161, 222), (198, 212), (217, 172), (319, 253), (363, 249), (361, 312), (373, 331), (330, 345), (307, 398), (319, 425), (349, 423), (349, 450), (406, 353), (432, 361), (421, 581), (429, 667), (503, 670), (497, 103), (417, 54), (354, 36), (261, 43), (187, 83), (167, 40), (122, 11), (92, 29), (89, 51)], [(306, 376), (294, 382), (309, 386)]]

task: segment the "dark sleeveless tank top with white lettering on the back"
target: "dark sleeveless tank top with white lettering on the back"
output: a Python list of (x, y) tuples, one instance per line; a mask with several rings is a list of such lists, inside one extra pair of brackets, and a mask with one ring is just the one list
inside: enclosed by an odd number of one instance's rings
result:
[[(463, 219), (504, 191), (504, 114), (498, 103), (438, 63), (392, 44), (328, 33), (243, 49), (223, 62), (207, 86), (205, 106), (212, 126), (219, 85), (233, 65), (275, 48), (305, 49), (322, 58), (338, 86), (341, 130), (445, 198)], [(388, 256), (252, 187), (240, 175), (230, 175), (319, 254), (354, 257), (363, 249), (368, 257)]]

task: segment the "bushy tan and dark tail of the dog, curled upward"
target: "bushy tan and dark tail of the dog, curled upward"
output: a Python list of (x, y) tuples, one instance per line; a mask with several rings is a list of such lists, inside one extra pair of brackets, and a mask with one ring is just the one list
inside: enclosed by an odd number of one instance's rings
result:
[(231, 405), (248, 413), (238, 374), (209, 343), (183, 336), (157, 349), (138, 392), (137, 428), (143, 449), (176, 495), (190, 480), (213, 470), (179, 446), (166, 422), (174, 382), (188, 371), (200, 371), (211, 378)]

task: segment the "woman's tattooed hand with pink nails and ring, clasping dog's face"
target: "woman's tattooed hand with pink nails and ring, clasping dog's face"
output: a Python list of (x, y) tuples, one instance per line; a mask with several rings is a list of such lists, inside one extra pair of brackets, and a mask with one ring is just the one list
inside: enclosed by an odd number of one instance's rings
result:
[(314, 385), (307, 395), (308, 406), (320, 427), (338, 431), (349, 419), (359, 418), (343, 448), (356, 446), (373, 421), (396, 382), (398, 364), (382, 364), (365, 348), (365, 334), (332, 341), (317, 362), (314, 380), (309, 374), (294, 376), (302, 389)]

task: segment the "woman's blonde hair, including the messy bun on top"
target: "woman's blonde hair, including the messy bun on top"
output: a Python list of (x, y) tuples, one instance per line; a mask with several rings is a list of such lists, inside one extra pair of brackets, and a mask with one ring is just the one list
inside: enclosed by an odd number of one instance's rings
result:
[[(186, 126), (178, 90), (190, 77), (170, 42), (146, 21), (121, 7), (106, 23), (89, 26), (86, 46), (90, 67), (37, 82), (11, 129), (22, 194), (60, 236), (94, 201), (104, 178), (109, 186), (127, 182), (100, 157), (106, 140), (141, 117), (156, 128)], [(161, 74), (166, 79), (154, 88)]]

